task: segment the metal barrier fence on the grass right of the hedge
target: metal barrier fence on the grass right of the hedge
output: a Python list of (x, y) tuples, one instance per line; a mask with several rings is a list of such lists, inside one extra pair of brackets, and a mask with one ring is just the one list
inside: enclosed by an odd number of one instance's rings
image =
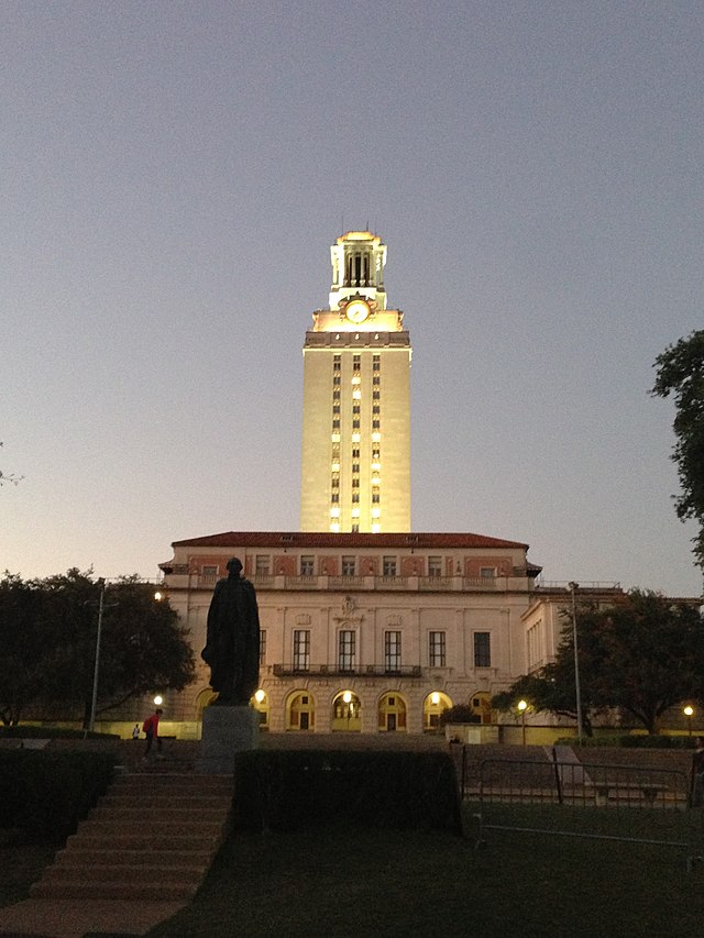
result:
[[(512, 830), (679, 848), (688, 871), (704, 852), (704, 809), (690, 805), (688, 773), (675, 769), (559, 758), (462, 755), (462, 795), (476, 802), (477, 843)], [(479, 771), (477, 771), (479, 769)]]

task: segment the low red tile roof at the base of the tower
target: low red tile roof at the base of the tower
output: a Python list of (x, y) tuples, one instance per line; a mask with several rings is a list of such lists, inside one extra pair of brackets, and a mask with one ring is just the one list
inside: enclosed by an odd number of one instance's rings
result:
[(223, 531), (202, 538), (174, 541), (173, 548), (496, 548), (528, 550), (528, 544), (505, 541), (486, 534), (466, 533), (385, 533), (385, 534), (333, 534), (329, 531)]

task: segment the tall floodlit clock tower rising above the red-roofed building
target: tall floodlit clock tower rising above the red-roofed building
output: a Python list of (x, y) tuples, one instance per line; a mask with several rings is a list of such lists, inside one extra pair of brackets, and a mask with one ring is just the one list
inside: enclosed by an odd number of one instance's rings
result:
[(410, 530), (410, 339), (387, 309), (386, 245), (330, 249), (330, 306), (304, 344), (301, 531)]

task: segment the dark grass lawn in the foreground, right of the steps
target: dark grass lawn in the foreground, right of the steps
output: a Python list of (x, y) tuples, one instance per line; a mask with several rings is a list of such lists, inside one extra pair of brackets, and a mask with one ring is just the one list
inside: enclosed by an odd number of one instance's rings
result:
[(237, 835), (195, 902), (150, 936), (690, 938), (702, 930), (704, 867), (688, 875), (682, 850), (497, 830), (487, 840), (475, 850), (472, 838), (431, 831)]

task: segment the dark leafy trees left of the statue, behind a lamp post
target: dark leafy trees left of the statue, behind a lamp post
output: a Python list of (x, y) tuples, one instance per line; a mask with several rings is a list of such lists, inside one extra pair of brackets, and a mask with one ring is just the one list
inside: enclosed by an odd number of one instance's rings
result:
[[(102, 584), (69, 570), (45, 580), (0, 580), (0, 718), (28, 711), (87, 720), (92, 703)], [(187, 632), (153, 585), (125, 576), (105, 587), (98, 711), (154, 689), (186, 687), (195, 662)]]

